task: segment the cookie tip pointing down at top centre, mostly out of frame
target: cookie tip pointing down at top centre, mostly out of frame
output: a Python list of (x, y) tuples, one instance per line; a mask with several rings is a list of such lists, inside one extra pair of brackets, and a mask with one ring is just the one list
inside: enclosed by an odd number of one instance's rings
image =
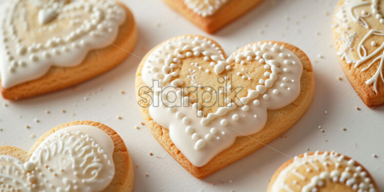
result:
[(263, 0), (163, 0), (208, 33), (215, 33)]

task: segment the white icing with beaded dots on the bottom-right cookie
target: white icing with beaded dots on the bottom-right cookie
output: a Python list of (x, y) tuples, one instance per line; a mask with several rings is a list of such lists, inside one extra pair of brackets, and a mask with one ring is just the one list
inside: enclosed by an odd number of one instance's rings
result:
[[(306, 171), (319, 172), (319, 175), (308, 178), (297, 171), (300, 167), (304, 167)], [(345, 168), (340, 171), (340, 167)], [(290, 175), (296, 177), (296, 180), (292, 183), (295, 187), (292, 187), (291, 183), (285, 182), (289, 179)], [(308, 181), (309, 183), (307, 183)], [(307, 184), (304, 186), (298, 184), (303, 182)], [(289, 166), (280, 171), (279, 176), (272, 185), (271, 192), (319, 191), (327, 182), (340, 182), (348, 187), (352, 187), (356, 191), (376, 192), (375, 186), (368, 177), (367, 172), (361, 166), (356, 165), (355, 160), (347, 160), (343, 155), (327, 151), (322, 154), (316, 151), (313, 155), (304, 153), (304, 156), (301, 158), (296, 156)]]

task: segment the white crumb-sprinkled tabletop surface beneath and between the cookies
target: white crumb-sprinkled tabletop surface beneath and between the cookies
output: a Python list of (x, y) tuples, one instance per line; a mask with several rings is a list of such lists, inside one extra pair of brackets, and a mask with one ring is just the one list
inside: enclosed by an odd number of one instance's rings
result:
[[(366, 107), (345, 79), (330, 27), (336, 0), (266, 0), (215, 35), (201, 31), (160, 0), (124, 2), (138, 23), (139, 40), (133, 51), (137, 56), (131, 55), (120, 66), (73, 88), (18, 102), (0, 99), (0, 128), (3, 129), (0, 145), (28, 150), (38, 137), (56, 125), (92, 120), (112, 127), (124, 139), (138, 166), (134, 191), (265, 191), (274, 171), (306, 148), (335, 150), (355, 158), (368, 168), (384, 190), (384, 183), (380, 182), (384, 178), (384, 107)], [(212, 37), (227, 53), (248, 43), (277, 40), (296, 45), (308, 54), (316, 81), (312, 106), (283, 139), (269, 144), (275, 150), (263, 147), (199, 180), (164, 151), (147, 127), (140, 125), (142, 118), (134, 92), (140, 57), (162, 41), (183, 34)], [(338, 75), (342, 81), (337, 79)], [(126, 93), (122, 94), (121, 90)], [(361, 110), (357, 111), (356, 106)], [(51, 113), (46, 114), (46, 110)], [(35, 118), (40, 123), (36, 123)], [(136, 129), (136, 125), (140, 129)], [(325, 132), (320, 132), (319, 125)], [(153, 156), (149, 156), (149, 152)], [(373, 158), (373, 154), (378, 158)]]

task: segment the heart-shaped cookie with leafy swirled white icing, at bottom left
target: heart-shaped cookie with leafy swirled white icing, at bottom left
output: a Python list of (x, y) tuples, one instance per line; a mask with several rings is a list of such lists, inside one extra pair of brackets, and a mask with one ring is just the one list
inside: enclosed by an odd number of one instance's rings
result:
[(1, 191), (132, 191), (133, 163), (117, 132), (77, 121), (46, 132), (26, 152), (0, 146)]

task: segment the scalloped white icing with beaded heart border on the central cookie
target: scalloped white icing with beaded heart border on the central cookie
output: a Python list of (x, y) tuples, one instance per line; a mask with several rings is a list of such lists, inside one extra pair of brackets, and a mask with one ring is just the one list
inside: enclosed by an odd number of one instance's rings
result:
[[(191, 75), (188, 79), (180, 79), (174, 68), (184, 58), (194, 56), (203, 57), (212, 68), (203, 69), (197, 63), (192, 63), (194, 69), (189, 69)], [(228, 101), (227, 106), (219, 107), (216, 112), (209, 113), (206, 117), (198, 117), (197, 114), (202, 114), (200, 104), (191, 102), (187, 93), (180, 90), (184, 81), (195, 83), (195, 86), (204, 86), (199, 84), (196, 76), (193, 78), (195, 67), (206, 73), (214, 71), (220, 74), (225, 70), (232, 70), (229, 64), (241, 65), (244, 60), (255, 59), (272, 72), (265, 72), (266, 79), (257, 81), (247, 75), (247, 68), (244, 65), (242, 71), (234, 74), (241, 76), (245, 81), (260, 83), (255, 89), (249, 89), (246, 97), (240, 98), (243, 105), (236, 107), (234, 103)], [(251, 44), (225, 60), (220, 48), (213, 42), (201, 37), (181, 36), (167, 41), (149, 55), (142, 70), (142, 78), (148, 86), (152, 86), (153, 80), (157, 80), (153, 82), (155, 84), (159, 82), (162, 87), (173, 86), (164, 89), (162, 94), (155, 90), (152, 101), (161, 101), (159, 97), (170, 97), (167, 93), (175, 91), (177, 93), (175, 102), (164, 103), (167, 106), (182, 103), (183, 107), (166, 107), (163, 102), (156, 107), (153, 105), (155, 102), (152, 102), (149, 113), (156, 123), (169, 129), (170, 139), (183, 155), (193, 165), (200, 167), (230, 147), (236, 137), (260, 131), (266, 123), (267, 109), (279, 109), (295, 101), (300, 93), (302, 70), (302, 63), (298, 57), (277, 44)], [(216, 78), (213, 75), (213, 79)], [(224, 91), (231, 91), (232, 86), (236, 85), (228, 85)], [(215, 92), (212, 88), (208, 88), (208, 91)]]

